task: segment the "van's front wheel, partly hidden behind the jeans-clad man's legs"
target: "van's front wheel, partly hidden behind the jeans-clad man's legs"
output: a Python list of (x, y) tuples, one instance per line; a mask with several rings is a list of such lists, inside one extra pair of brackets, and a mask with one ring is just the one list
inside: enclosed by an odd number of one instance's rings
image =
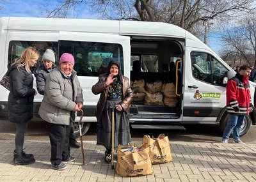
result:
[[(220, 129), (222, 133), (224, 133), (227, 123), (228, 123), (228, 113), (225, 112), (220, 121)], [(250, 116), (246, 115), (244, 118), (244, 125), (241, 128), (239, 136), (245, 135), (250, 130), (251, 126), (252, 126), (252, 120)], [(231, 135), (233, 135), (233, 132), (231, 132)]]

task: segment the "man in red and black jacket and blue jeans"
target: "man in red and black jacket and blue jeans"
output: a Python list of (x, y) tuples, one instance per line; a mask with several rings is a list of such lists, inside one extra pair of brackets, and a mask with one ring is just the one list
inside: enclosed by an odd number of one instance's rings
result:
[(250, 84), (248, 82), (252, 69), (250, 66), (241, 66), (239, 73), (228, 80), (227, 83), (227, 112), (229, 121), (223, 133), (223, 143), (228, 143), (228, 137), (233, 130), (233, 142), (244, 144), (239, 139), (241, 126), (246, 114), (252, 112), (252, 99), (250, 95)]

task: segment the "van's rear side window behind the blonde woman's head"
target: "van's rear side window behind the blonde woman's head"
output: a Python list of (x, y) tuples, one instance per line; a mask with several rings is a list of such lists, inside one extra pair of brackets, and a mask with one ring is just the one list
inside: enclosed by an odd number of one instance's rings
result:
[[(21, 53), (27, 47), (34, 47), (37, 52), (40, 54), (40, 57), (36, 63), (36, 67), (42, 64), (42, 56), (46, 49), (53, 50), (55, 54), (55, 58), (57, 58), (58, 54), (58, 42), (39, 42), (39, 41), (17, 41), (12, 40), (9, 43), (8, 47), (8, 64), (12, 63), (14, 59), (19, 58)], [(58, 63), (58, 59), (56, 59), (56, 63)]]

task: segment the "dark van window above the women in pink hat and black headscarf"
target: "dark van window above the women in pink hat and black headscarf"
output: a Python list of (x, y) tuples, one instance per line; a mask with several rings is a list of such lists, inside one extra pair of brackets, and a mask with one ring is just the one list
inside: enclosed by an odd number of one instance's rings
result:
[(118, 61), (124, 70), (122, 45), (117, 43), (60, 40), (60, 54), (68, 52), (75, 58), (74, 70), (79, 76), (98, 77), (107, 72), (109, 61)]

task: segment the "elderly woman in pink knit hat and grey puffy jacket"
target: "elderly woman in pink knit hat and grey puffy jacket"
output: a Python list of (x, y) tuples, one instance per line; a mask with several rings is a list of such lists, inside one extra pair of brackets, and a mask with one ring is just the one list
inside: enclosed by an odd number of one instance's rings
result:
[(63, 170), (76, 158), (70, 156), (70, 123), (75, 111), (83, 107), (83, 91), (79, 84), (72, 54), (60, 57), (60, 67), (52, 71), (45, 82), (45, 94), (38, 114), (47, 122), (51, 142), (51, 167)]

